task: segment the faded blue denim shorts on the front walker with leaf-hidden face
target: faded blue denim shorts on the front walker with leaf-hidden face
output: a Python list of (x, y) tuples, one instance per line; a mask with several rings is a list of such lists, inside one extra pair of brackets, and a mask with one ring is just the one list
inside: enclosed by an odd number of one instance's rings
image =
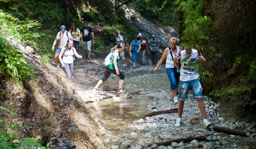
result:
[(191, 88), (194, 98), (202, 98), (203, 99), (203, 93), (202, 93), (202, 85), (200, 83), (200, 79), (194, 79), (192, 81), (180, 81), (180, 87), (179, 87), (179, 99), (181, 101), (187, 100), (187, 94), (188, 90)]

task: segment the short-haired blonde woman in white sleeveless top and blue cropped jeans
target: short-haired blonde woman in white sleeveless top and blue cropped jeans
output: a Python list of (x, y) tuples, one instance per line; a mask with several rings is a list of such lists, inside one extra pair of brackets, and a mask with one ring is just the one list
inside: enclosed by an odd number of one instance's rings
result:
[(161, 59), (159, 60), (158, 64), (156, 65), (154, 69), (154, 73), (156, 73), (158, 67), (165, 61), (166, 59), (166, 72), (169, 77), (170, 83), (171, 83), (171, 93), (173, 95), (174, 103), (178, 103), (178, 98), (176, 95), (176, 89), (178, 86), (178, 83), (180, 82), (180, 75), (177, 75), (177, 73), (174, 73), (174, 70), (177, 71), (174, 67), (174, 58), (178, 55), (180, 52), (180, 48), (177, 46), (178, 40), (175, 37), (172, 37), (169, 40), (170, 47), (167, 47), (164, 50), (164, 53), (162, 54)]

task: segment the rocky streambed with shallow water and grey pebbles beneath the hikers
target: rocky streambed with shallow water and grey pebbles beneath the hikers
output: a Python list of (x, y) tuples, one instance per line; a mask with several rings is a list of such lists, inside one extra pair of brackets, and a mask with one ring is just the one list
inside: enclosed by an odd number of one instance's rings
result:
[[(219, 113), (220, 103), (214, 103), (204, 96), (206, 115), (213, 126), (238, 129), (246, 137), (213, 131), (213, 127), (203, 128), (203, 120), (197, 101), (191, 92), (185, 101), (181, 127), (175, 127), (177, 113), (160, 114), (152, 117), (143, 115), (153, 111), (169, 110), (178, 107), (170, 95), (170, 82), (162, 65), (154, 74), (154, 66), (141, 66), (132, 69), (119, 69), (126, 75), (124, 88), (127, 93), (106, 93), (100, 88), (100, 95), (91, 89), (102, 78), (105, 67), (101, 61), (78, 60), (75, 62), (73, 83), (78, 94), (89, 106), (96, 122), (106, 133), (104, 149), (171, 149), (171, 148), (204, 148), (204, 149), (254, 149), (256, 148), (255, 124), (237, 121), (226, 121)], [(118, 84), (119, 78), (112, 76), (106, 84)], [(169, 145), (147, 144), (165, 142), (174, 139), (198, 137), (213, 134), (206, 140), (171, 143)]]

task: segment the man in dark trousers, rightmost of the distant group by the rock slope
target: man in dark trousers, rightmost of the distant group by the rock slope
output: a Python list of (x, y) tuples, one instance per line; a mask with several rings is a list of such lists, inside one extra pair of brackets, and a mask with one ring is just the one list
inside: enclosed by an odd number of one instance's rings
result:
[(149, 40), (149, 49), (152, 65), (156, 65), (158, 63), (158, 52), (160, 51), (160, 48), (158, 39), (155, 38), (155, 35), (152, 35), (152, 39)]

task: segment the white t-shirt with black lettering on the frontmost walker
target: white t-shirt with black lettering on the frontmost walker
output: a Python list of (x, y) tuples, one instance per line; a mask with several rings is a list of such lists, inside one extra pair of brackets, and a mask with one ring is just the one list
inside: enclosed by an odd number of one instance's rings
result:
[(198, 61), (198, 51), (192, 49), (192, 53), (190, 55), (186, 54), (186, 50), (181, 51), (181, 61), (185, 58), (188, 59), (186, 62), (181, 63), (180, 80), (185, 82), (197, 79), (199, 77), (198, 66), (196, 66), (196, 68), (192, 68), (189, 64), (194, 64)]

